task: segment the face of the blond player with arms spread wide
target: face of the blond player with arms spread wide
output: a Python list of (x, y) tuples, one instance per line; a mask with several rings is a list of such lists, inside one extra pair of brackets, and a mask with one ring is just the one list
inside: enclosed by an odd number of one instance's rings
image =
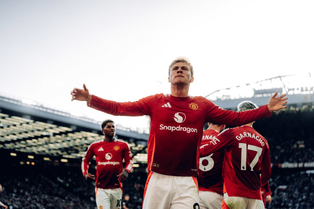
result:
[(187, 85), (192, 83), (194, 77), (191, 76), (190, 65), (184, 62), (177, 62), (171, 66), (170, 76), (168, 77), (168, 81), (173, 84), (182, 84)]

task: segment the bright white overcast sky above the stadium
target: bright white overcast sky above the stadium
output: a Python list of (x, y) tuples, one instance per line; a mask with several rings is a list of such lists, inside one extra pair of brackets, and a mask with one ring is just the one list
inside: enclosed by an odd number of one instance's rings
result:
[(170, 93), (177, 56), (192, 62), (191, 96), (313, 73), (313, 11), (312, 0), (1, 0), (0, 93), (147, 127), (71, 102), (70, 91), (85, 83), (118, 102)]

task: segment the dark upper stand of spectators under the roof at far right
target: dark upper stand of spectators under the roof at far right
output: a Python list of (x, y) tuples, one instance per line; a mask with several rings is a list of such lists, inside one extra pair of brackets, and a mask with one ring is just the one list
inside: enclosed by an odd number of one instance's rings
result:
[(268, 141), (271, 162), (314, 162), (314, 112), (280, 111), (254, 123)]

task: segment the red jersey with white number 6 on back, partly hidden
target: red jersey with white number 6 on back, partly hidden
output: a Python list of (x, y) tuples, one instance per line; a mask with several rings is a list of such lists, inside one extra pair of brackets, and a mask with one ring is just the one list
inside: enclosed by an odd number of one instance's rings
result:
[[(213, 140), (215, 141), (218, 134), (219, 132), (212, 129), (204, 130), (201, 147), (203, 145), (207, 146)], [(211, 152), (206, 149), (199, 150), (199, 190), (213, 191), (222, 195), (224, 187), (224, 180), (222, 177), (224, 157), (225, 151), (223, 149), (216, 152)]]

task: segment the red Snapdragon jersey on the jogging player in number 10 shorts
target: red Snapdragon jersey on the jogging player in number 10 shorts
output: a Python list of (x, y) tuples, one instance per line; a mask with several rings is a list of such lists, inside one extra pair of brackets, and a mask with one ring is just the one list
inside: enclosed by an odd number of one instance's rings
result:
[(105, 142), (104, 139), (95, 141), (89, 145), (82, 159), (83, 176), (88, 173), (89, 163), (96, 157), (96, 182), (95, 187), (101, 189), (122, 188), (117, 175), (122, 172), (123, 159), (125, 170), (130, 172), (133, 168), (133, 159), (129, 145), (115, 139), (113, 142)]

